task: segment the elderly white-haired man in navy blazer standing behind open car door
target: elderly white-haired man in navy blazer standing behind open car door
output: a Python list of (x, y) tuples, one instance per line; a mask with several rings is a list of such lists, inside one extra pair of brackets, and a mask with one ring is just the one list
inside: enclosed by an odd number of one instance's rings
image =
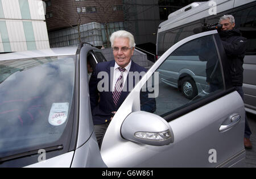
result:
[[(145, 68), (131, 60), (135, 42), (130, 32), (114, 32), (110, 36), (110, 41), (114, 60), (98, 63), (89, 81), (90, 106), (92, 109), (94, 131), (99, 145), (112, 116), (129, 94), (130, 91), (127, 89), (133, 89), (135, 86), (134, 78), (130, 79), (128, 73), (146, 72)], [(105, 83), (98, 85), (102, 80)], [(129, 86), (131, 84), (133, 86)], [(104, 90), (98, 89), (98, 86), (101, 86)], [(123, 89), (123, 86), (126, 86), (126, 89)], [(146, 95), (141, 95), (141, 103), (143, 104), (141, 110), (151, 113), (155, 111), (155, 99), (148, 100)]]

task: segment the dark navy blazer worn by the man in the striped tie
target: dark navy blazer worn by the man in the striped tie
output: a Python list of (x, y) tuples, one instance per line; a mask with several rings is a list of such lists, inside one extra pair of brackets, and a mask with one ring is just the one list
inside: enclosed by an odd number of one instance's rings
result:
[[(89, 93), (90, 93), (90, 107), (92, 109), (92, 117), (93, 117), (93, 123), (94, 124), (103, 124), (106, 122), (109, 122), (112, 111), (117, 111), (118, 108), (122, 105), (123, 101), (125, 101), (125, 98), (130, 93), (129, 90), (122, 91), (121, 96), (119, 97), (119, 101), (117, 106), (114, 105), (113, 102), (113, 94), (112, 94), (112, 77), (113, 74), (111, 74), (110, 68), (114, 67), (115, 61), (107, 61), (103, 63), (98, 63), (96, 65), (96, 69), (93, 71), (92, 76), (90, 77), (89, 81)], [(147, 70), (143, 68), (142, 66), (139, 66), (138, 64), (131, 61), (131, 67), (129, 72), (146, 72)], [(108, 79), (104, 79), (104, 76), (102, 78), (97, 78), (98, 73), (100, 72), (106, 72), (108, 73)], [(141, 78), (141, 77), (140, 77)], [(105, 82), (108, 81), (108, 84), (102, 83), (101, 80), (104, 80)], [(125, 85), (127, 85), (127, 89), (133, 89), (135, 86), (135, 77), (133, 77), (133, 88), (129, 88), (129, 75), (126, 78)], [(97, 86), (98, 82), (101, 81), (101, 85), (104, 88), (104, 85), (106, 88), (108, 87), (108, 90), (99, 92)], [(141, 92), (141, 110), (148, 111), (153, 113), (156, 109), (155, 105), (155, 99), (154, 98), (148, 98), (147, 92)]]

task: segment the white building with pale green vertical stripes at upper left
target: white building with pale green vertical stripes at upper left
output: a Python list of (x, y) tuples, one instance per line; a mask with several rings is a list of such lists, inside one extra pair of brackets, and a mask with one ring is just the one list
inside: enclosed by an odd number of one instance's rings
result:
[(42, 0), (0, 0), (0, 52), (49, 48)]

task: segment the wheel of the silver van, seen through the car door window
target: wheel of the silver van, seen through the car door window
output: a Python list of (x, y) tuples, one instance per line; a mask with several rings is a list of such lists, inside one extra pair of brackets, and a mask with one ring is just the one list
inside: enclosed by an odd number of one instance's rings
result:
[(193, 99), (196, 97), (198, 91), (197, 91), (196, 83), (191, 77), (184, 77), (181, 80), (180, 84), (181, 84), (181, 92), (186, 98)]

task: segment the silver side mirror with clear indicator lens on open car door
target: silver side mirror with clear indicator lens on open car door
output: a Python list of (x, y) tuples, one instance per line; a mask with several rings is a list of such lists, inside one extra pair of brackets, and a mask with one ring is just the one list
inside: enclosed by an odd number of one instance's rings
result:
[(121, 126), (123, 138), (147, 145), (168, 145), (174, 142), (174, 134), (166, 120), (145, 111), (129, 114)]

